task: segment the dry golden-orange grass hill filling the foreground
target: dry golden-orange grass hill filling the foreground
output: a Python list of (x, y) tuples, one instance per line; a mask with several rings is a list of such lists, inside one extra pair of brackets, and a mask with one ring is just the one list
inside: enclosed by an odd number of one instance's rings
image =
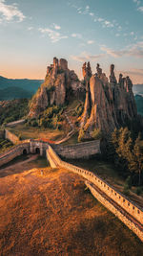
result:
[(42, 169), (0, 178), (1, 255), (143, 255), (141, 242), (81, 177)]

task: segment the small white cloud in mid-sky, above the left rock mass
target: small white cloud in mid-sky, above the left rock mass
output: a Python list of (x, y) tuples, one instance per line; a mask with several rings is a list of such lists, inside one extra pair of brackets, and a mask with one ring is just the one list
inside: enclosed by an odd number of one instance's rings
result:
[(39, 28), (39, 31), (42, 33), (42, 35), (49, 35), (49, 37), (51, 38), (51, 42), (53, 43), (58, 42), (61, 39), (68, 38), (67, 35), (61, 35), (59, 32), (53, 31), (49, 28), (46, 28), (46, 29)]

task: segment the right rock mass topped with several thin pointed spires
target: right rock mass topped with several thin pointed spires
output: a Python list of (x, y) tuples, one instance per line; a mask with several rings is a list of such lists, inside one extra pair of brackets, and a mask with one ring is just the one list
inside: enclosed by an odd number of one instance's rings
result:
[(132, 81), (120, 74), (117, 82), (113, 70), (112, 64), (109, 81), (99, 64), (94, 75), (90, 63), (83, 65), (86, 101), (80, 127), (85, 130), (86, 137), (92, 136), (94, 129), (109, 134), (137, 116)]

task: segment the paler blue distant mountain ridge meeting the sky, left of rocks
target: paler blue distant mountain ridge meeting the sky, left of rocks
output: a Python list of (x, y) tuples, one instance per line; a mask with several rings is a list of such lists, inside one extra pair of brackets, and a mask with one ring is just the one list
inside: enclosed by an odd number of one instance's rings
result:
[(0, 76), (0, 90), (8, 87), (18, 87), (24, 90), (35, 93), (43, 80), (28, 80), (28, 79), (7, 79)]

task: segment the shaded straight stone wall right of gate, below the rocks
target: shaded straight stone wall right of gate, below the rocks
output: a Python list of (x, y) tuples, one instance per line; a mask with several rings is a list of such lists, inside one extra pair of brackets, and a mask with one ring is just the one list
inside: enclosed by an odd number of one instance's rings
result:
[(69, 159), (89, 158), (100, 153), (100, 140), (77, 143), (70, 146), (53, 145), (52, 148), (62, 157)]

